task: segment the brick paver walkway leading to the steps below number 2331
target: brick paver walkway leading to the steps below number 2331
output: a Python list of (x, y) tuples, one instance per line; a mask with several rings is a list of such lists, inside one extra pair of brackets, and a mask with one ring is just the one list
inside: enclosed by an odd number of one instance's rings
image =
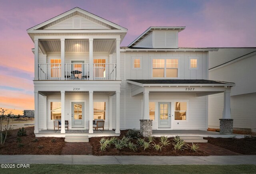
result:
[(92, 146), (90, 143), (65, 143), (61, 154), (84, 155), (92, 154)]

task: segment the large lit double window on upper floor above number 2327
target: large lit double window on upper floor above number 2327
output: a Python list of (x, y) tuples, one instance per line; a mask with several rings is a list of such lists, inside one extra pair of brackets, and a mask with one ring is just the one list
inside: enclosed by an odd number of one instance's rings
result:
[(153, 59), (152, 77), (178, 77), (178, 59)]

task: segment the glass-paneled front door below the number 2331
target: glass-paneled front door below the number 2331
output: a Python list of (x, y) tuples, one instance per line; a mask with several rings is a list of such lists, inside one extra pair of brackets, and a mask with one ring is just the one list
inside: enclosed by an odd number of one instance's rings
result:
[(72, 127), (84, 128), (84, 102), (72, 102)]

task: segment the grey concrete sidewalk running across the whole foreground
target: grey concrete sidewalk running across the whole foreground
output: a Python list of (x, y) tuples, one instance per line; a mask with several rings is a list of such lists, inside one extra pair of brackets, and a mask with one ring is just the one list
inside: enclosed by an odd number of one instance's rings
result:
[(256, 155), (239, 156), (93, 156), (93, 155), (0, 155), (0, 164), (254, 164)]

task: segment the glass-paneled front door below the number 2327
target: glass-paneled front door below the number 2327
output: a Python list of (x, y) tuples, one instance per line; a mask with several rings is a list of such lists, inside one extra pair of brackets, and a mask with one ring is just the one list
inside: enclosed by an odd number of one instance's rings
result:
[(170, 102), (159, 102), (158, 111), (158, 128), (171, 128)]

